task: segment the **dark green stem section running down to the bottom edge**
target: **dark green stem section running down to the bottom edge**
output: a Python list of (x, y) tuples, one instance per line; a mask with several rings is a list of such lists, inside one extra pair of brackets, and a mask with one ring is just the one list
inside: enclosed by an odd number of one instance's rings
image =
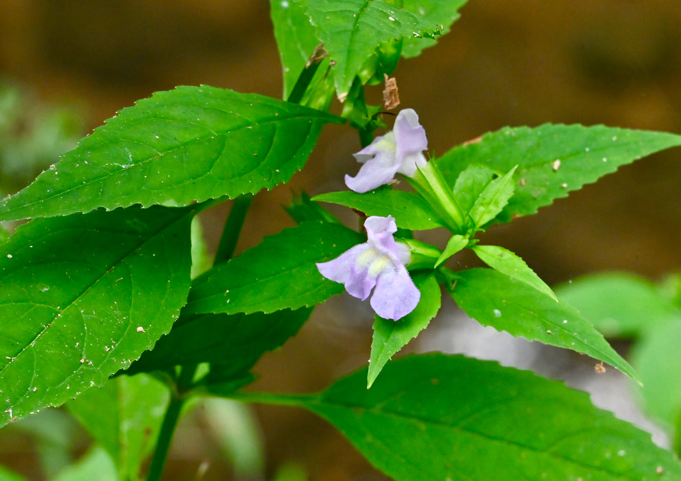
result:
[(164, 465), (166, 465), (170, 443), (172, 443), (172, 436), (175, 434), (177, 421), (182, 412), (182, 407), (188, 399), (188, 389), (192, 385), (192, 379), (194, 379), (194, 374), (196, 372), (197, 365), (183, 366), (177, 379), (177, 390), (170, 389), (170, 403), (168, 404), (166, 415), (161, 424), (161, 431), (159, 432), (159, 438), (156, 443), (154, 457), (151, 460), (149, 474), (146, 478), (147, 481), (159, 481), (161, 479)]

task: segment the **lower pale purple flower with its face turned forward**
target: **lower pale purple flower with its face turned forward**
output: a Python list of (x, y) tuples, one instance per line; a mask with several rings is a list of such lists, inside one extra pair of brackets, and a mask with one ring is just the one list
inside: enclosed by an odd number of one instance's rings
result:
[(372, 216), (364, 222), (368, 240), (338, 258), (317, 263), (322, 276), (345, 284), (355, 298), (365, 300), (371, 290), (371, 307), (384, 319), (399, 320), (414, 311), (421, 292), (405, 267), (411, 260), (409, 247), (392, 236), (397, 225), (392, 216)]

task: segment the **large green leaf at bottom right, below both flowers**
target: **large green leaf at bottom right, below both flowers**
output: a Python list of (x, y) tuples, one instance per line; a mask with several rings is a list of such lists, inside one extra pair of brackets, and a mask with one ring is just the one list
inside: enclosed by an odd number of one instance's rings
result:
[[(587, 394), (491, 361), (403, 357), (289, 402), (326, 418), (394, 480), (678, 480), (650, 434)], [(275, 401), (276, 402), (276, 401)]]

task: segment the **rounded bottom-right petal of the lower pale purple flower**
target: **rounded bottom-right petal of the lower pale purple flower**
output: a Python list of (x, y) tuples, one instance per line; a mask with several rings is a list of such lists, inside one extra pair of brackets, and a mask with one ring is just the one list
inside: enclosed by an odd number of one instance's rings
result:
[(381, 273), (370, 303), (383, 319), (397, 321), (414, 311), (420, 299), (421, 292), (416, 289), (407, 269), (400, 265)]

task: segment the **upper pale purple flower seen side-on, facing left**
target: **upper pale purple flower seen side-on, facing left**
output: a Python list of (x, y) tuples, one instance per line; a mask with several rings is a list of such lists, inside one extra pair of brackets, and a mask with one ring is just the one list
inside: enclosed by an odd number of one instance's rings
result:
[(423, 150), (428, 148), (425, 130), (414, 109), (397, 114), (392, 131), (353, 154), (360, 164), (356, 177), (345, 176), (350, 190), (364, 194), (394, 179), (397, 172), (411, 177), (416, 167), (425, 166)]

